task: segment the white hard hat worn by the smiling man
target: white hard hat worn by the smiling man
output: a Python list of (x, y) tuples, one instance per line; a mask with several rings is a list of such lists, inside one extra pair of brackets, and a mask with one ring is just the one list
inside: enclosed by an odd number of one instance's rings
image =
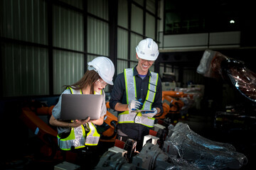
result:
[(150, 61), (156, 60), (159, 55), (158, 45), (151, 38), (141, 40), (136, 47), (136, 52), (139, 58)]

